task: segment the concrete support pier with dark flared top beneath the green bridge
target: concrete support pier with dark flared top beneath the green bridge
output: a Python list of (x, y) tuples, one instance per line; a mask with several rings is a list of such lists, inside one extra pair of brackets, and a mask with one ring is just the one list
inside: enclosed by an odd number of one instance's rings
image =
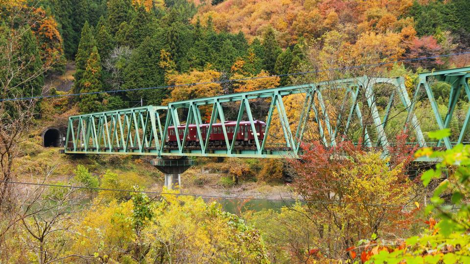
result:
[(187, 157), (180, 159), (165, 159), (163, 157), (153, 159), (150, 164), (157, 167), (165, 175), (165, 187), (169, 190), (181, 188), (181, 173), (192, 165), (192, 160)]

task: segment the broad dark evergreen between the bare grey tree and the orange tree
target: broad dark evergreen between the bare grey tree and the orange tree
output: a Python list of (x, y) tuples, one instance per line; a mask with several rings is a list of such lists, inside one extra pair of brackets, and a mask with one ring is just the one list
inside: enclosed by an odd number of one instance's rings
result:
[[(124, 84), (122, 88), (146, 88), (164, 85), (165, 71), (160, 66), (161, 54), (164, 46), (161, 38), (147, 37), (139, 48), (132, 52), (129, 64), (124, 70)], [(146, 104), (161, 105), (167, 95), (166, 89), (140, 90), (126, 93), (129, 99), (140, 101), (143, 98)]]

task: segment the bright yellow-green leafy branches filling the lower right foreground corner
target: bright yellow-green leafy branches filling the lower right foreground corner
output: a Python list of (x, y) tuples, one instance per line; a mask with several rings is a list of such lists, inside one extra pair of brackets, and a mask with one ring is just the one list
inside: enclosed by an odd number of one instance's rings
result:
[[(442, 139), (449, 133), (447, 129), (430, 136)], [(435, 169), (423, 173), (424, 186), (448, 175), (425, 208), (429, 214), (427, 227), (419, 236), (395, 241), (361, 240), (358, 247), (349, 250), (355, 256), (355, 251), (362, 249), (361, 261), (375, 264), (470, 263), (470, 146), (457, 145), (446, 151), (423, 148), (415, 156), (442, 160)]]

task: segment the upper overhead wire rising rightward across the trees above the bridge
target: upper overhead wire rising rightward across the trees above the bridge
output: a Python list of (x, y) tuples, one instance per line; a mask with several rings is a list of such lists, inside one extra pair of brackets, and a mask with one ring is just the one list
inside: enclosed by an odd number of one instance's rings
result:
[(293, 72), (293, 73), (285, 73), (285, 74), (277, 74), (277, 75), (269, 75), (269, 76), (258, 76), (258, 77), (250, 77), (250, 78), (240, 78), (240, 79), (231, 79), (231, 80), (175, 84), (175, 85), (165, 85), (165, 86), (156, 86), (156, 87), (147, 87), (147, 88), (134, 88), (134, 89), (123, 89), (123, 90), (99, 91), (99, 92), (77, 93), (77, 94), (67, 94), (67, 95), (3, 98), (3, 99), (0, 99), (0, 101), (18, 101), (18, 100), (31, 100), (31, 99), (41, 99), (41, 98), (51, 98), (51, 97), (81, 96), (81, 95), (95, 95), (95, 94), (104, 94), (104, 93), (133, 92), (133, 91), (141, 91), (141, 90), (177, 88), (177, 87), (184, 87), (184, 86), (215, 84), (215, 83), (221, 84), (221, 83), (230, 83), (230, 82), (237, 82), (237, 81), (247, 81), (247, 80), (263, 79), (263, 78), (272, 78), (272, 77), (284, 77), (284, 76), (291, 76), (291, 75), (305, 75), (305, 74), (309, 74), (309, 73), (318, 73), (318, 72), (331, 72), (331, 71), (351, 70), (351, 69), (358, 69), (358, 68), (365, 68), (365, 67), (377, 67), (377, 66), (382, 66), (382, 65), (387, 65), (387, 64), (394, 64), (394, 63), (401, 63), (401, 62), (411, 62), (411, 61), (419, 61), (419, 60), (427, 60), (427, 59), (435, 59), (435, 58), (450, 57), (450, 56), (464, 55), (464, 54), (470, 54), (470, 51), (463, 51), (463, 52), (436, 55), (436, 56), (429, 56), (429, 57), (421, 57), (421, 58), (414, 58), (414, 59), (396, 60), (396, 61), (390, 61), (390, 62), (362, 64), (362, 65), (348, 66), (348, 67), (342, 67), (342, 68), (330, 68), (330, 69), (307, 71), (307, 72)]

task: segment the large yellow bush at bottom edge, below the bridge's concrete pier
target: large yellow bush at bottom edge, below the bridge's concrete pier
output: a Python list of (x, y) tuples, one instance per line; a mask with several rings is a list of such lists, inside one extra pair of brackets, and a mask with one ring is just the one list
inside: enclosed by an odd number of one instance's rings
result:
[(222, 213), (220, 205), (190, 196), (165, 195), (164, 200), (142, 230), (144, 241), (156, 245), (151, 256), (164, 254), (169, 263), (266, 263), (258, 233)]

